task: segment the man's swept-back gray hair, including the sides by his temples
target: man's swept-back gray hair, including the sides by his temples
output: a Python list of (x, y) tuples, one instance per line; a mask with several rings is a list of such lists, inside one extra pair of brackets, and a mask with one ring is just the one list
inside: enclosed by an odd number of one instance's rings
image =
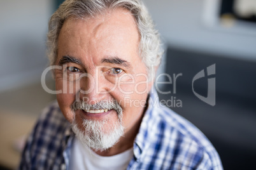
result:
[[(124, 8), (129, 10), (136, 19), (140, 36), (139, 53), (145, 63), (148, 74), (151, 67), (158, 66), (162, 57), (159, 33), (141, 0), (66, 0), (53, 13), (48, 27), (48, 58), (54, 65), (57, 58), (57, 43), (60, 29), (65, 20), (70, 17), (86, 18), (103, 14), (107, 10)], [(150, 76), (149, 76), (150, 77)]]

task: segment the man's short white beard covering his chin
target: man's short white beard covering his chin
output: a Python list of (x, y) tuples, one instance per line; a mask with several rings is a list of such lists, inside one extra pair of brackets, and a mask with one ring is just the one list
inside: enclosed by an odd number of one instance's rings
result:
[(105, 119), (104, 121), (84, 119), (82, 126), (82, 129), (78, 128), (78, 124), (74, 119), (72, 130), (83, 145), (87, 145), (95, 151), (100, 150), (102, 152), (113, 147), (120, 137), (124, 135), (124, 127), (122, 126), (121, 119), (118, 119), (111, 126), (109, 119)]

